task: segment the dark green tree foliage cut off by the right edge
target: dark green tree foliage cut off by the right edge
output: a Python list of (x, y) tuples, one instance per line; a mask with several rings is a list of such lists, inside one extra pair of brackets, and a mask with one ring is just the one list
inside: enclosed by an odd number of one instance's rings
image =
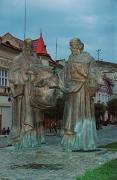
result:
[(112, 115), (117, 115), (117, 99), (111, 99), (107, 103), (108, 112)]

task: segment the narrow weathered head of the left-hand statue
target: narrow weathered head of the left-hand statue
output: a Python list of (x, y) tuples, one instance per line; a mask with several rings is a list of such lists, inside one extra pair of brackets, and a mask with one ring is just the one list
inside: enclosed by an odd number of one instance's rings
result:
[(33, 44), (32, 44), (31, 39), (25, 39), (24, 40), (23, 52), (32, 55), (32, 53), (33, 53)]

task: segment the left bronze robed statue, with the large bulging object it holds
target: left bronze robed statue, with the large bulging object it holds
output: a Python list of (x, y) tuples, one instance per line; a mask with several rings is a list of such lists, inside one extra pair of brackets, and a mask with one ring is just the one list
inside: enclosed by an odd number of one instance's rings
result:
[(56, 105), (57, 78), (52, 68), (42, 65), (32, 49), (32, 40), (24, 40), (23, 52), (9, 69), (13, 120), (11, 139), (18, 149), (37, 147), (45, 142), (44, 111)]

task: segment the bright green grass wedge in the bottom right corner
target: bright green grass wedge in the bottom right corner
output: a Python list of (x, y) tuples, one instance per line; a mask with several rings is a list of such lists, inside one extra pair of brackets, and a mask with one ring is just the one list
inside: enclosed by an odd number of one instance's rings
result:
[(97, 169), (87, 171), (77, 180), (117, 180), (117, 159), (111, 160)]

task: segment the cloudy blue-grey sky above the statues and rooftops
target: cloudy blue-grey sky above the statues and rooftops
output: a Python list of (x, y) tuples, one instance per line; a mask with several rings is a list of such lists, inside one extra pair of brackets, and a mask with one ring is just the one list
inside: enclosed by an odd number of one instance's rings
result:
[[(117, 0), (26, 0), (26, 37), (36, 39), (42, 29), (45, 44), (55, 58), (70, 54), (69, 40), (80, 38), (97, 58), (117, 63)], [(25, 0), (0, 0), (0, 36), (6, 32), (23, 39)]]

